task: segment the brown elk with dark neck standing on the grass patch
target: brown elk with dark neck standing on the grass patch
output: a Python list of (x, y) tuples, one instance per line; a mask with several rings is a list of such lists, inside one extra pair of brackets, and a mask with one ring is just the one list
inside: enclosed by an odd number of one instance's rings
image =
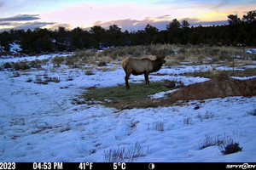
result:
[(148, 75), (151, 72), (159, 71), (161, 66), (166, 63), (165, 57), (166, 54), (164, 53), (164, 50), (162, 53), (155, 54), (156, 59), (136, 59), (132, 57), (127, 57), (124, 60), (122, 60), (121, 65), (125, 70), (125, 87), (126, 89), (130, 89), (128, 79), (132, 75), (142, 75), (144, 74), (145, 77), (145, 85), (149, 86), (148, 81)]

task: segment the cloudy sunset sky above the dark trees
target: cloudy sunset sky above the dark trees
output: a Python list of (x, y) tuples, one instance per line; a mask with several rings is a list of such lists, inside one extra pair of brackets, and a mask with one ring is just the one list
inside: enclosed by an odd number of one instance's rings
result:
[(117, 25), (123, 31), (147, 24), (165, 30), (173, 19), (190, 26), (227, 24), (229, 14), (240, 18), (256, 9), (256, 0), (0, 0), (0, 30), (55, 30)]

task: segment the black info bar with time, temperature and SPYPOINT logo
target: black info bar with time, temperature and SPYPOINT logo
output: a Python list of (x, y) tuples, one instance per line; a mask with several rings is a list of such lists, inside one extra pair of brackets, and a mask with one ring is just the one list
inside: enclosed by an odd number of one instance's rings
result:
[(169, 163), (169, 162), (0, 162), (0, 170), (160, 170), (160, 169), (256, 169), (256, 163)]

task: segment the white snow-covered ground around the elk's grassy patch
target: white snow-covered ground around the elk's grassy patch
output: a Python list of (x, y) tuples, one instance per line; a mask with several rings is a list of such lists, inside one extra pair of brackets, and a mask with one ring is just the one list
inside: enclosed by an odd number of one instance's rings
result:
[[(0, 63), (7, 61), (11, 59)], [(188, 85), (208, 79), (179, 74), (208, 67), (163, 67), (149, 77)], [(256, 97), (117, 111), (76, 101), (84, 88), (123, 84), (125, 72), (120, 66), (114, 71), (94, 69), (92, 75), (85, 72), (50, 64), (39, 71), (0, 71), (1, 161), (106, 161), (109, 150), (128, 150), (136, 144), (143, 149), (136, 161), (256, 161)], [(44, 77), (60, 82), (35, 83)], [(143, 78), (131, 76), (131, 82)], [(242, 151), (224, 156), (216, 144), (200, 149), (206, 139), (233, 139)]]

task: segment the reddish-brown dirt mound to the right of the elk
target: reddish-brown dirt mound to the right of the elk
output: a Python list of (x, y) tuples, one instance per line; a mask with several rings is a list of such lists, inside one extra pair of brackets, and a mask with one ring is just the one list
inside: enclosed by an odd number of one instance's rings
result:
[(168, 99), (177, 101), (253, 95), (256, 95), (256, 78), (237, 80), (221, 72), (207, 82), (191, 84), (168, 94)]

